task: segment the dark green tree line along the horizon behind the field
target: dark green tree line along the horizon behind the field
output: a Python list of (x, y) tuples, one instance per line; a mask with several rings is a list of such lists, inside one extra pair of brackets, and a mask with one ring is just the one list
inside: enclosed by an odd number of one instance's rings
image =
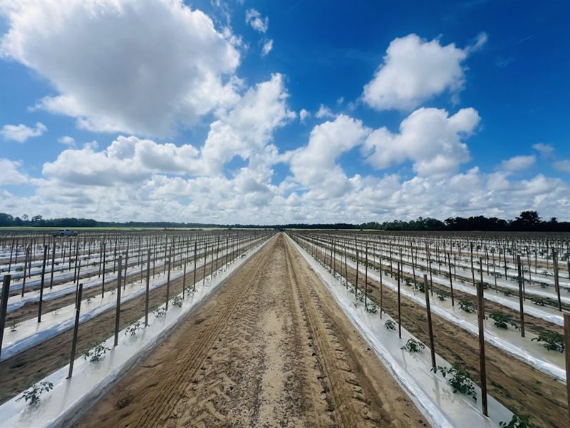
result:
[(348, 229), (348, 230), (481, 230), (481, 231), (536, 231), (536, 232), (570, 232), (570, 222), (559, 222), (555, 217), (550, 220), (542, 220), (537, 211), (523, 211), (517, 218), (505, 220), (497, 217), (450, 217), (446, 220), (437, 218), (418, 218), (417, 220), (393, 220), (383, 223), (370, 222), (361, 224), (351, 223), (289, 223), (284, 225), (222, 225), (214, 223), (179, 223), (179, 222), (108, 222), (98, 221), (92, 218), (50, 218), (45, 219), (41, 215), (29, 217), (14, 217), (6, 213), (0, 213), (0, 227), (30, 226), (39, 228), (228, 228), (228, 229)]

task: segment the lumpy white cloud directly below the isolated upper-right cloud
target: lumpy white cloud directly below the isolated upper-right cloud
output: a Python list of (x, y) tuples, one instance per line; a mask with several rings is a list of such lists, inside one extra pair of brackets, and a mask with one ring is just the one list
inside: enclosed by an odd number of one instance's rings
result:
[(463, 138), (475, 131), (480, 121), (473, 108), (455, 115), (437, 108), (419, 108), (400, 123), (400, 132), (379, 128), (366, 139), (363, 153), (375, 168), (413, 161), (419, 175), (449, 175), (470, 160)]

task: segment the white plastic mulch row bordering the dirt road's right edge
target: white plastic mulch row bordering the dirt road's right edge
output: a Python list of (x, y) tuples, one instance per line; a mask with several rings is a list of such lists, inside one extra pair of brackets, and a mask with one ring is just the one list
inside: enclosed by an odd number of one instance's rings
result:
[[(484, 417), (480, 410), (481, 390), (477, 386), (476, 401), (462, 394), (454, 394), (444, 377), (431, 372), (430, 352), (427, 347), (424, 352), (415, 354), (402, 350), (401, 347), (408, 339), (415, 338), (413, 335), (402, 328), (402, 339), (400, 339), (398, 332), (387, 330), (383, 326), (385, 320), (391, 319), (388, 315), (384, 315), (383, 320), (380, 320), (378, 314), (366, 312), (364, 305), (355, 307), (353, 294), (349, 293), (338, 279), (300, 245), (291, 241), (326, 285), (348, 319), (433, 427), (490, 428), (497, 427), (499, 422), (511, 420), (512, 412), (491, 396), (487, 397), (489, 417)], [(436, 363), (440, 366), (450, 366), (437, 354)]]

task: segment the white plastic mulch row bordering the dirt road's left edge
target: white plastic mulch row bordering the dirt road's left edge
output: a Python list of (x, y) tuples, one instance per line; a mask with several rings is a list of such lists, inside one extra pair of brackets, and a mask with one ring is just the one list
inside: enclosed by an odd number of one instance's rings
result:
[[(68, 366), (53, 372), (42, 381), (52, 382), (53, 389), (41, 394), (38, 404), (28, 405), (14, 397), (0, 406), (1, 425), (6, 427), (59, 427), (68, 425), (105, 394), (128, 370), (152, 351), (165, 337), (185, 320), (195, 308), (223, 284), (241, 265), (269, 242), (266, 239), (229, 264), (227, 270), (208, 277), (206, 285), (197, 284), (196, 292), (187, 294), (182, 307), (169, 305), (163, 317), (149, 314), (149, 326), (130, 335), (126, 329), (119, 333), (119, 344), (113, 347), (113, 337), (105, 341), (111, 350), (97, 362), (79, 357), (74, 362), (73, 377), (66, 379)], [(182, 294), (180, 294), (182, 296)], [(144, 317), (140, 320), (144, 325)]]

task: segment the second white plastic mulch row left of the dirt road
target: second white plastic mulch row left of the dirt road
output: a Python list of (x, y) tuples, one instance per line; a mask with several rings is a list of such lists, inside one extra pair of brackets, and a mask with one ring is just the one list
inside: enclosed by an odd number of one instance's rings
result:
[[(224, 254), (224, 251), (220, 251), (219, 257), (223, 257)], [(203, 258), (197, 260), (197, 270), (203, 267), (204, 263)], [(182, 277), (182, 275), (184, 275), (182, 271), (177, 273), (171, 272), (170, 281), (177, 280)], [(152, 291), (158, 287), (163, 287), (166, 283), (167, 273), (161, 273), (149, 281), (149, 290)], [(100, 282), (98, 282), (98, 284), (100, 284)], [(73, 285), (73, 288), (74, 287)], [(129, 300), (133, 300), (135, 297), (143, 295), (145, 291), (146, 282), (131, 282), (122, 290), (120, 299), (121, 305)], [(84, 299), (81, 303), (82, 311), (79, 322), (83, 324), (83, 322), (97, 317), (116, 305), (117, 296), (112, 292), (106, 292), (105, 297), (100, 297), (100, 295), (93, 297), (89, 302), (86, 302), (86, 299)], [(6, 327), (4, 329), (4, 342), (2, 343), (0, 361), (8, 360), (41, 342), (61, 335), (61, 333), (73, 328), (74, 323), (75, 304), (72, 304), (44, 313), (41, 322), (38, 322), (36, 317), (21, 322), (16, 331), (11, 331), (11, 327)]]

